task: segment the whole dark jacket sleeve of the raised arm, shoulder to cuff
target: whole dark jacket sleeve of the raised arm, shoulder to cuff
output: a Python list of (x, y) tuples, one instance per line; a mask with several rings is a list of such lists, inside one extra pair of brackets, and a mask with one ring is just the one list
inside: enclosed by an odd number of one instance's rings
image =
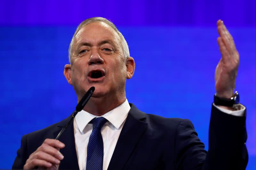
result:
[(248, 162), (246, 139), (245, 116), (228, 115), (212, 106), (208, 152), (193, 124), (189, 120), (180, 122), (175, 144), (176, 169), (243, 170)]

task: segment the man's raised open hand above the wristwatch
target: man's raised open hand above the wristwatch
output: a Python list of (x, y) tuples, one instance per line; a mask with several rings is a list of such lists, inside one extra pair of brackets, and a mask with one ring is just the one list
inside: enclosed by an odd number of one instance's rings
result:
[(231, 98), (235, 90), (239, 54), (222, 20), (217, 21), (217, 27), (220, 35), (217, 41), (222, 57), (215, 70), (215, 89), (219, 97)]

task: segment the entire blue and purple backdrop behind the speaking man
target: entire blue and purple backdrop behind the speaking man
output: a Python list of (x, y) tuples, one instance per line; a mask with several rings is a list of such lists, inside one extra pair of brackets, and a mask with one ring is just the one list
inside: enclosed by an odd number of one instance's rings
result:
[(146, 113), (190, 119), (206, 149), (221, 57), (216, 21), (224, 20), (240, 53), (247, 170), (256, 169), (255, 7), (253, 0), (1, 1), (0, 168), (11, 168), (24, 134), (74, 110), (76, 95), (63, 76), (68, 45), (81, 21), (101, 16), (116, 24), (135, 59), (128, 101)]

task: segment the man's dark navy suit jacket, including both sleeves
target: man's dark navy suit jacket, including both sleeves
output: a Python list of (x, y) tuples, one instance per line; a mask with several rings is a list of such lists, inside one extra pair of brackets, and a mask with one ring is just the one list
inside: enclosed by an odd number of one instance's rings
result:
[[(222, 113), (212, 107), (209, 150), (197, 137), (187, 119), (164, 118), (145, 114), (133, 104), (118, 138), (108, 170), (182, 169), (242, 170), (248, 161), (245, 116)], [(21, 139), (13, 169), (22, 169), (29, 155), (46, 138), (55, 138), (71, 116)], [(66, 146), (59, 169), (79, 169), (73, 122), (59, 138)]]

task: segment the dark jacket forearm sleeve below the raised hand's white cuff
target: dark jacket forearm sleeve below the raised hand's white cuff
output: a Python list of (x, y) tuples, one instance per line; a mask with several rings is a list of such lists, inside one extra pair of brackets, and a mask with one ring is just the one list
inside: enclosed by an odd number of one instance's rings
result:
[(246, 110), (243, 117), (229, 115), (212, 106), (209, 127), (209, 150), (204, 169), (239, 169), (247, 166), (248, 152), (245, 146)]

